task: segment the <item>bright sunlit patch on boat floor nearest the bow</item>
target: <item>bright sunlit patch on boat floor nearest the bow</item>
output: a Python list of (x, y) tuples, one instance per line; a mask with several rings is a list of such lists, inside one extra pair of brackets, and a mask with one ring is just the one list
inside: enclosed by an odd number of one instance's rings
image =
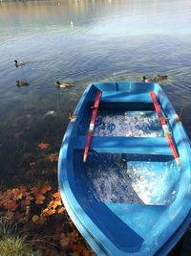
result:
[(133, 190), (143, 203), (166, 205), (177, 195), (174, 182), (177, 184), (178, 177), (175, 178), (174, 175), (178, 174), (175, 170), (175, 162), (128, 162), (126, 174), (131, 180)]

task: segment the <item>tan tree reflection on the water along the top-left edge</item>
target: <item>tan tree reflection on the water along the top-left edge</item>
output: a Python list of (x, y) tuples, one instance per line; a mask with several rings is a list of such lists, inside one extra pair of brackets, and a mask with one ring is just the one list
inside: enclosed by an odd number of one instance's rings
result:
[[(70, 22), (80, 22), (88, 17), (89, 21), (95, 22), (96, 17), (105, 17), (110, 12), (110, 8), (118, 6), (118, 1), (112, 0), (57, 0), (57, 1), (28, 1), (28, 0), (14, 0), (6, 1), (0, 0), (0, 21), (14, 24), (15, 19), (25, 24), (33, 23), (60, 23), (60, 19)], [(59, 3), (59, 4), (58, 4)], [(120, 4), (123, 1), (120, 1)], [(119, 5), (121, 6), (121, 5)], [(120, 7), (119, 7), (120, 8)], [(81, 19), (83, 17), (83, 19)], [(89, 23), (89, 24), (90, 24)]]

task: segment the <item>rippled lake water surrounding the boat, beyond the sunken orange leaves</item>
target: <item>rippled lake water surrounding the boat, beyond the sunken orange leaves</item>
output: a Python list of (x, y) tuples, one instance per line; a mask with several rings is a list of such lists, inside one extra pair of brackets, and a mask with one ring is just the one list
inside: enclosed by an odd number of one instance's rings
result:
[[(59, 151), (68, 109), (91, 81), (167, 74), (161, 86), (184, 108), (191, 138), (190, 13), (190, 0), (0, 0), (0, 185), (52, 178), (37, 145)], [(16, 68), (14, 59), (26, 65)], [(57, 89), (55, 81), (74, 86)], [(24, 175), (33, 162), (37, 173)]]

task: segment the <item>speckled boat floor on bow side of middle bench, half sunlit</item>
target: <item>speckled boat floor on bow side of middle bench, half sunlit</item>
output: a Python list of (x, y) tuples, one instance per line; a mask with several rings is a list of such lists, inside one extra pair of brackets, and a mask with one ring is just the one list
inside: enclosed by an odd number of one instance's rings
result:
[(126, 162), (121, 154), (110, 153), (90, 153), (90, 158), (89, 192), (99, 201), (167, 205), (176, 198), (179, 170), (174, 161)]

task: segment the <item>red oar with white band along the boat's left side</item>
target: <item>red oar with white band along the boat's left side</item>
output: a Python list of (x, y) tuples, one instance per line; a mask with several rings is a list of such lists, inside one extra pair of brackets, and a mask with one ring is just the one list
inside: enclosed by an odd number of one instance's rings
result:
[(98, 110), (98, 105), (100, 102), (100, 98), (101, 98), (101, 92), (97, 92), (96, 93), (96, 100), (95, 100), (95, 105), (94, 105), (94, 109), (93, 109), (93, 113), (92, 113), (92, 118), (91, 118), (91, 122), (90, 122), (90, 128), (88, 130), (88, 137), (86, 140), (86, 147), (84, 150), (84, 155), (83, 155), (83, 162), (85, 163), (88, 157), (88, 151), (90, 149), (90, 145), (91, 145), (91, 141), (92, 141), (92, 136), (93, 136), (93, 131), (95, 128), (95, 123), (96, 123), (96, 115), (97, 115), (97, 110)]

